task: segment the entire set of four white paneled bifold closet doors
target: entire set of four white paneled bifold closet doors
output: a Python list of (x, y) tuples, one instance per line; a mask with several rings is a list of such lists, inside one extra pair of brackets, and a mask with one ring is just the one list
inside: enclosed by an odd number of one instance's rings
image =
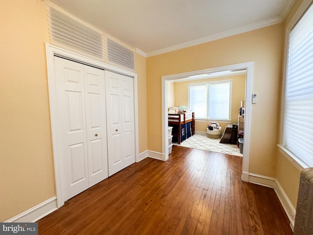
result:
[(134, 79), (57, 56), (54, 65), (54, 156), (66, 201), (135, 162)]

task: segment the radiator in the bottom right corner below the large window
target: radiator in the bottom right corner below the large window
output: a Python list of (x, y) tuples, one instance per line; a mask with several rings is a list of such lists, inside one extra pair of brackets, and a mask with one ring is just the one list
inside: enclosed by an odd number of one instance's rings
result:
[(313, 167), (301, 171), (293, 235), (313, 234)]

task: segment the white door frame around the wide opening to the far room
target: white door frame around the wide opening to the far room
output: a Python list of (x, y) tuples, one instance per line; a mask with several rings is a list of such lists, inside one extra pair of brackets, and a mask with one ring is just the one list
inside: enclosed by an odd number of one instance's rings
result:
[(162, 160), (168, 160), (168, 97), (167, 82), (171, 80), (183, 79), (189, 76), (201, 75), (212, 72), (246, 70), (246, 94), (245, 94), (245, 144), (243, 147), (242, 180), (249, 181), (249, 158), (250, 158), (250, 136), (251, 136), (251, 114), (252, 114), (252, 82), (253, 82), (253, 61), (209, 68), (198, 71), (182, 72), (177, 74), (162, 76)]

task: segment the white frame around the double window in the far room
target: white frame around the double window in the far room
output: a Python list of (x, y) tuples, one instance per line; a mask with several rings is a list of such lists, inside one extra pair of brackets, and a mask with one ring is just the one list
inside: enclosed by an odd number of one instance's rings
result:
[[(209, 117), (209, 93), (208, 87), (210, 84), (222, 84), (222, 83), (229, 83), (229, 106), (228, 106), (228, 118), (227, 119), (212, 119)], [(191, 109), (190, 106), (190, 87), (193, 86), (203, 86), (206, 85), (206, 118), (196, 118), (198, 120), (215, 120), (215, 121), (231, 121), (232, 115), (232, 79), (225, 79), (225, 80), (218, 80), (218, 81), (208, 81), (208, 82), (199, 82), (199, 83), (190, 83), (188, 84), (188, 107)]]

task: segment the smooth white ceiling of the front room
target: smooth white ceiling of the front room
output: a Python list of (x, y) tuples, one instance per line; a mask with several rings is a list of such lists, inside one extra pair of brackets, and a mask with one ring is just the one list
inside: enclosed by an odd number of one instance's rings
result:
[(50, 0), (153, 55), (282, 22), (294, 0)]

